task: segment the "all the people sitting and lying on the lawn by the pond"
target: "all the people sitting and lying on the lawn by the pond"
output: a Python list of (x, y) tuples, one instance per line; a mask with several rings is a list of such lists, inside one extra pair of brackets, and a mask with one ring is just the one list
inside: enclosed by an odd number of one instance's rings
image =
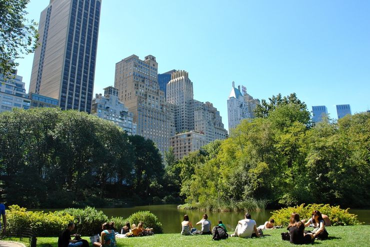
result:
[[(327, 216), (324, 215), (326, 221), (329, 224)], [(288, 238), (291, 243), (294, 244), (305, 244), (312, 243), (315, 238), (325, 239), (327, 237), (327, 231), (325, 229), (325, 220), (323, 215), (318, 211), (314, 210), (312, 212), (312, 217), (307, 221), (304, 219), (300, 220), (298, 213), (291, 213), (289, 218), (289, 225), (287, 227)], [(206, 235), (212, 234), (211, 231), (211, 222), (208, 219), (206, 213), (203, 214), (202, 219), (200, 219), (196, 225), (201, 225), (200, 230), (197, 230), (193, 227), (189, 216), (185, 214), (183, 216), (183, 221), (181, 222), (181, 235)], [(222, 223), (221, 220), (218, 220), (218, 225), (221, 226), (225, 232), (227, 232), (226, 226)], [(304, 228), (306, 226), (313, 226), (314, 229), (311, 231), (306, 231)], [(88, 246), (88, 242), (84, 239), (81, 239), (78, 234), (71, 234), (71, 231), (74, 229), (74, 223), (70, 222), (65, 230), (63, 230), (58, 238), (58, 247), (72, 247), (72, 246)], [(263, 225), (256, 226), (255, 220), (251, 219), (250, 213), (245, 213), (244, 218), (237, 222), (234, 232), (230, 236), (238, 236), (243, 238), (250, 237), (259, 237), (260, 232), (258, 229), (272, 229), (274, 228), (274, 220), (270, 219), (266, 221)], [(144, 228), (143, 222), (139, 222), (136, 226), (132, 224), (130, 227), (129, 222), (127, 222), (121, 228), (121, 235), (124, 236), (138, 236), (142, 232), (152, 232), (152, 228)], [(94, 247), (115, 247), (116, 241), (115, 236), (116, 232), (114, 231), (113, 222), (105, 222), (102, 224), (102, 231), (100, 233), (100, 240), (93, 242)], [(284, 233), (281, 233), (282, 235)], [(74, 236), (75, 239), (71, 239), (71, 236)]]

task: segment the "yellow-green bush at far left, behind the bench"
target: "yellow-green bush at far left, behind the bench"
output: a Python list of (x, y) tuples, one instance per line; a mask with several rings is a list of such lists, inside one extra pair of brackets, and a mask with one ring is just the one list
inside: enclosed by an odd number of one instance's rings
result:
[(30, 228), (37, 236), (57, 236), (74, 217), (68, 213), (27, 211), (18, 205), (10, 205), (6, 210), (7, 229)]

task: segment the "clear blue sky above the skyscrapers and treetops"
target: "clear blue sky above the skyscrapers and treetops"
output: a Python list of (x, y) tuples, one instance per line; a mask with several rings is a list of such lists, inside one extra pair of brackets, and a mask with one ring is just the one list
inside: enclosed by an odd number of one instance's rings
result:
[[(48, 2), (30, 0), (28, 17)], [(369, 0), (102, 0), (94, 93), (131, 54), (154, 55), (159, 73), (187, 70), (226, 129), (232, 80), (259, 99), (295, 92), (333, 118), (335, 104), (370, 108)], [(27, 91), (32, 60), (18, 60)]]

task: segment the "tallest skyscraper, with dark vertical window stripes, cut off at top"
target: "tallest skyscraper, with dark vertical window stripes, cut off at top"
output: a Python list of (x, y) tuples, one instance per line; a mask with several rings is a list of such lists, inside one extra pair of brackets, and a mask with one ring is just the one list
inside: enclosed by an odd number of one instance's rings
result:
[(29, 92), (91, 111), (101, 0), (50, 0), (38, 25)]

